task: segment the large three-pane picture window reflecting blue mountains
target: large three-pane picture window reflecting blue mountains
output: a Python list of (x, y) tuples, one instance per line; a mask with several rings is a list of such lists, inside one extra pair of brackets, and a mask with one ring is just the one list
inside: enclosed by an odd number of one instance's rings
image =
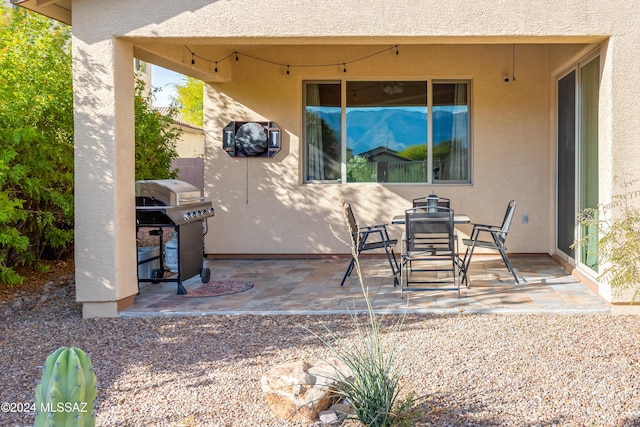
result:
[(307, 82), (304, 93), (308, 182), (469, 182), (468, 81)]

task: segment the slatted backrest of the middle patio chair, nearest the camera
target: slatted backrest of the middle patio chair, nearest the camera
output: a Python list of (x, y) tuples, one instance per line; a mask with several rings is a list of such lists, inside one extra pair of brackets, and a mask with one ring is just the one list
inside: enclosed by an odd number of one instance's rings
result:
[(455, 237), (453, 211), (443, 206), (423, 207), (405, 211), (408, 251), (436, 249), (453, 252)]

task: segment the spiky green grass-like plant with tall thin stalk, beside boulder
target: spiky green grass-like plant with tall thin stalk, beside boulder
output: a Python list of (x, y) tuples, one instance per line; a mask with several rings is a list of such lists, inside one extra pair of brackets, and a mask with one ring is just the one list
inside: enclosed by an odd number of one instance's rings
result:
[[(344, 207), (343, 200), (340, 200), (340, 204)], [(344, 210), (343, 213), (349, 233), (359, 236), (359, 230), (351, 229)], [(323, 340), (336, 358), (349, 368), (348, 372), (343, 372), (335, 367), (335, 375), (330, 378), (334, 383), (332, 387), (336, 398), (348, 402), (353, 408), (353, 414), (348, 414), (347, 418), (355, 418), (368, 427), (411, 425), (414, 400), (412, 396), (400, 400), (402, 366), (396, 357), (395, 341), (387, 343), (383, 339), (362, 276), (357, 239), (355, 242), (350, 239), (350, 242), (355, 270), (367, 305), (368, 322), (361, 323), (357, 315), (351, 313), (357, 333), (353, 346), (340, 345), (338, 337), (331, 331), (333, 341)], [(396, 327), (399, 329), (401, 325), (402, 319)]]

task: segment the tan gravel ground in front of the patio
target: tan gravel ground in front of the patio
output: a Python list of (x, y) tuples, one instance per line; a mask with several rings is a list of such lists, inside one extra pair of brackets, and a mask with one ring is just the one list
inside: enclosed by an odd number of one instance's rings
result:
[[(260, 388), (271, 366), (331, 353), (311, 332), (354, 339), (348, 316), (82, 319), (73, 287), (0, 303), (0, 402), (32, 402), (39, 365), (62, 345), (85, 350), (98, 377), (99, 426), (296, 426)], [(416, 426), (638, 426), (635, 316), (408, 315), (385, 337), (403, 390), (422, 399)], [(33, 413), (0, 413), (27, 426)], [(308, 423), (307, 423), (308, 425)]]

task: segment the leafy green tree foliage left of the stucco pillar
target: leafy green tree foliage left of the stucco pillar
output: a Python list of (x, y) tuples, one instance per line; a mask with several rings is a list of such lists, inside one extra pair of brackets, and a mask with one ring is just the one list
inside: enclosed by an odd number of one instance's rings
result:
[(73, 89), (68, 26), (0, 6), (0, 281), (71, 252)]

